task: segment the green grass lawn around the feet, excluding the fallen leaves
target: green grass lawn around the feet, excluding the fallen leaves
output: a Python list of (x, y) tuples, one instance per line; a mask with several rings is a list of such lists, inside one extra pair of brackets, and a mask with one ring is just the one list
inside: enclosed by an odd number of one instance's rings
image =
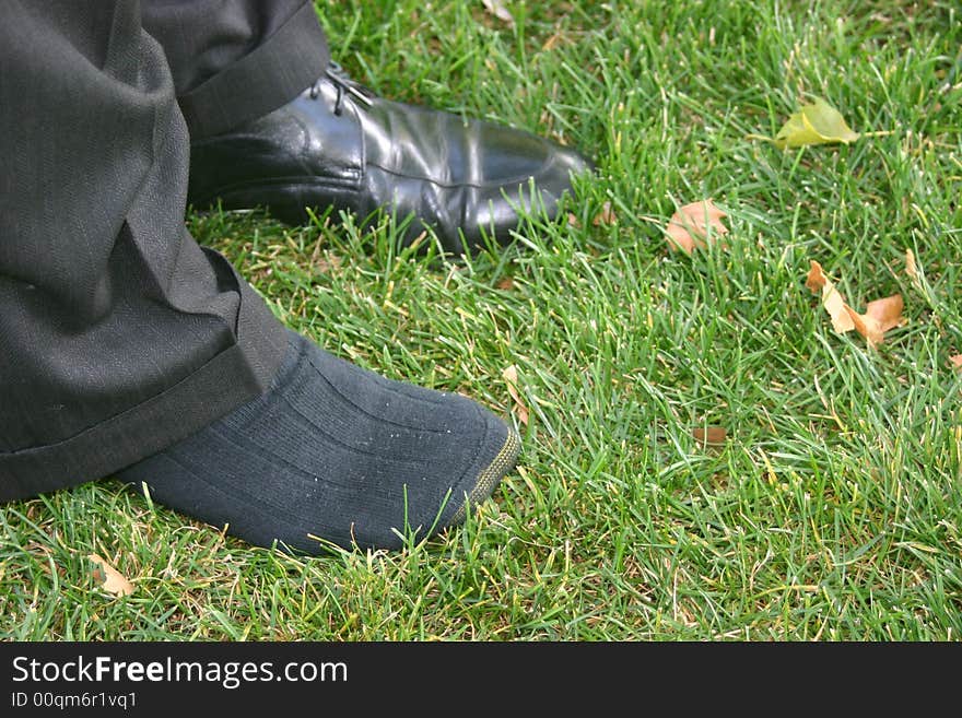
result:
[[(530, 422), (479, 516), (400, 553), (251, 549), (115, 481), (0, 508), (21, 639), (955, 640), (962, 634), (962, 13), (932, 2), (318, 3), (382, 94), (598, 160), (567, 211), (471, 261), (392, 228), (192, 215), (278, 317), (382, 374)], [(787, 153), (820, 95), (860, 132)], [(712, 197), (728, 249), (667, 251)], [(593, 219), (605, 202), (614, 224)], [(911, 281), (913, 249), (924, 279)], [(878, 351), (805, 289), (900, 292)], [(511, 278), (511, 282), (505, 280)], [(515, 420), (516, 421), (516, 420)], [(722, 447), (692, 429), (720, 425)], [(93, 479), (93, 476), (92, 476)], [(137, 590), (115, 599), (83, 556)]]

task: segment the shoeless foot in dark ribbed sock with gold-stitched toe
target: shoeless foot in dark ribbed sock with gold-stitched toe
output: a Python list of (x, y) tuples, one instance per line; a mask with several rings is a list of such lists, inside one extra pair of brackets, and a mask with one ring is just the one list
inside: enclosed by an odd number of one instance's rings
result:
[(266, 395), (118, 478), (254, 544), (397, 549), (398, 532), (460, 522), (519, 448), (470, 399), (385, 379), (289, 332)]

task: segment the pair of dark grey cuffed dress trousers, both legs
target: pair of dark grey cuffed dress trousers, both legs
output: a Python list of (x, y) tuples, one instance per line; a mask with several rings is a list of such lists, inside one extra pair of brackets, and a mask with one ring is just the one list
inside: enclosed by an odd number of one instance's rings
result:
[(283, 328), (184, 225), (189, 138), (292, 99), (304, 0), (0, 7), (0, 501), (98, 479), (266, 390)]

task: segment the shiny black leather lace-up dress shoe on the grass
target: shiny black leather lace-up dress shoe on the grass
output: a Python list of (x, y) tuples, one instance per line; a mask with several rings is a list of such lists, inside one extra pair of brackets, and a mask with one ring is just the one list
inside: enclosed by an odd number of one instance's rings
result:
[(190, 151), (196, 208), (265, 207), (294, 224), (305, 208), (362, 220), (383, 208), (413, 215), (407, 243), (431, 226), (455, 254), (480, 246), (482, 233), (509, 240), (521, 208), (553, 217), (572, 175), (590, 168), (531, 133), (377, 97), (337, 66), (283, 107)]

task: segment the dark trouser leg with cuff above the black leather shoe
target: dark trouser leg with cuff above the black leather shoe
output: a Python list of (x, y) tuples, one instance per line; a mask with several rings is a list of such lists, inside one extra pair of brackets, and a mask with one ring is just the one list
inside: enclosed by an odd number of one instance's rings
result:
[(167, 56), (192, 140), (277, 109), (329, 60), (309, 0), (146, 0), (143, 24)]

